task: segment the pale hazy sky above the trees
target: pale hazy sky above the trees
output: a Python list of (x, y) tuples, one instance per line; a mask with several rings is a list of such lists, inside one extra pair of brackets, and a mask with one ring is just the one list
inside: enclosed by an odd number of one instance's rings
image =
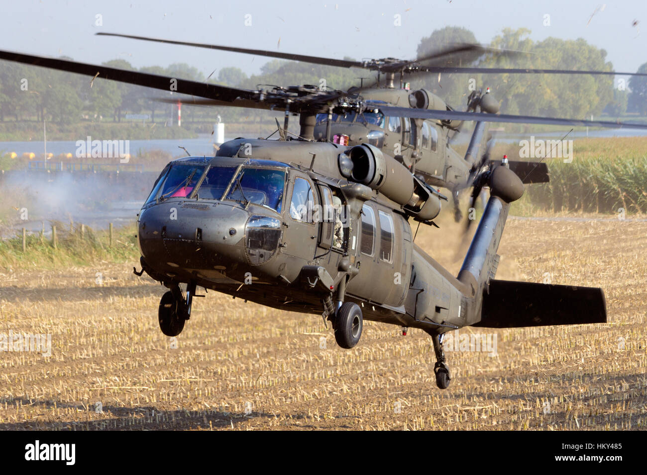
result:
[[(415, 57), (421, 37), (443, 26), (464, 26), (481, 43), (488, 43), (502, 28), (523, 26), (532, 30), (534, 40), (583, 37), (606, 49), (617, 71), (634, 72), (647, 62), (645, 0), (613, 0), (606, 5), (586, 0), (0, 1), (1, 49), (65, 55), (87, 63), (123, 58), (135, 67), (184, 62), (206, 75), (226, 66), (237, 66), (251, 74), (268, 59), (97, 37), (94, 33), (164, 37), (332, 58), (408, 59)], [(394, 25), (396, 14), (401, 16), (401, 26)], [(546, 14), (550, 15), (550, 26), (543, 25)], [(96, 25), (98, 15), (102, 26)], [(636, 20), (639, 23), (632, 26)], [(251, 25), (246, 26), (246, 21)]]

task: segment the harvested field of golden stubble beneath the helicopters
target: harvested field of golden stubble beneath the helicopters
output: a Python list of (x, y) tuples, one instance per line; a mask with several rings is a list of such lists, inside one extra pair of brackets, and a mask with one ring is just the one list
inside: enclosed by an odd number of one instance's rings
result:
[[(452, 230), (416, 242), (455, 274)], [(316, 315), (209, 292), (170, 339), (135, 262), (8, 269), (0, 333), (51, 333), (51, 356), (0, 353), (0, 430), (645, 428), (646, 249), (646, 222), (510, 218), (497, 278), (600, 286), (609, 322), (462, 329), (497, 351), (448, 352), (447, 390), (421, 330), (365, 322), (343, 350)]]

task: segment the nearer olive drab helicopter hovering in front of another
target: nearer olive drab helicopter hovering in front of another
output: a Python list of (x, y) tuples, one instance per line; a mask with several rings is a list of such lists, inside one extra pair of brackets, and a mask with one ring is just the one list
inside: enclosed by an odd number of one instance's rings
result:
[[(173, 160), (153, 185), (137, 222), (142, 270), (133, 271), (169, 289), (158, 310), (165, 335), (179, 335), (203, 287), (322, 315), (342, 348), (360, 341), (364, 319), (421, 328), (433, 340), (437, 386), (447, 388), (448, 331), (606, 322), (600, 288), (495, 279), (510, 204), (524, 192), (507, 159), (481, 158), (470, 182), (472, 196), (487, 187), (490, 198), (454, 277), (413, 242), (411, 229), (416, 221), (433, 226), (446, 198), (376, 145), (313, 136), (318, 113), (375, 109), (422, 120), (591, 122), (395, 107), (309, 86), (236, 89), (1, 50), (0, 59), (162, 90), (175, 84), (177, 92), (214, 105), (300, 114), (300, 138), (230, 140), (214, 157)], [(329, 137), (330, 121), (327, 129)]]

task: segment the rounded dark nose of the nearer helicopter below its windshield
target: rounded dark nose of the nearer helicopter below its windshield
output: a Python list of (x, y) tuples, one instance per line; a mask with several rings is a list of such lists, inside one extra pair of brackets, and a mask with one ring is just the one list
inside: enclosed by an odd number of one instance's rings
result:
[(140, 213), (138, 244), (146, 263), (168, 275), (245, 262), (248, 213), (223, 202), (165, 202)]

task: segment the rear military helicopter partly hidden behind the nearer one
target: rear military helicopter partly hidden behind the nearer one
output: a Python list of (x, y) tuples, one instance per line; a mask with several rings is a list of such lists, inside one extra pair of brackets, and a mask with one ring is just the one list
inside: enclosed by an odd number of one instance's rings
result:
[[(421, 76), (429, 74), (452, 73), (488, 73), (488, 74), (587, 74), (606, 75), (623, 74), (630, 76), (647, 76), (644, 73), (624, 73), (611, 71), (591, 70), (564, 70), (564, 69), (510, 69), (510, 68), (482, 68), (482, 67), (447, 67), (439, 64), (447, 62), (460, 64), (463, 61), (490, 55), (494, 58), (501, 56), (521, 56), (525, 52), (502, 48), (492, 48), (472, 43), (458, 43), (438, 48), (415, 60), (382, 58), (364, 59), (353, 61), (349, 59), (322, 58), (303, 54), (276, 52), (250, 48), (237, 48), (222, 45), (209, 45), (187, 41), (133, 36), (100, 32), (98, 36), (124, 37), (141, 41), (151, 41), (168, 45), (182, 45), (188, 47), (222, 50), (267, 58), (289, 59), (324, 66), (364, 69), (377, 72), (377, 78), (366, 87), (351, 87), (347, 92), (354, 96), (375, 102), (376, 104), (404, 105), (412, 109), (435, 110), (452, 112), (454, 109), (445, 103), (432, 91), (426, 89), (410, 90), (409, 83), (405, 82), (408, 76)], [(447, 61), (449, 59), (449, 61)], [(399, 87), (396, 87), (399, 76)], [(380, 80), (381, 78), (381, 80)], [(173, 100), (177, 103), (178, 100)], [(196, 101), (195, 98), (181, 100), (192, 104), (208, 104), (208, 101)], [(481, 111), (487, 114), (497, 114), (499, 103), (490, 94), (489, 88), (485, 90), (472, 90), (468, 94), (466, 112)], [(454, 142), (463, 130), (464, 121), (447, 116), (437, 120), (417, 117), (409, 114), (386, 114), (384, 107), (381, 109), (365, 109), (363, 112), (348, 112), (334, 114), (332, 111), (316, 114), (312, 134), (309, 129), (302, 129), (300, 136), (314, 138), (318, 141), (342, 143), (342, 145), (361, 145), (369, 143), (381, 149), (384, 153), (393, 156), (397, 161), (406, 165), (411, 173), (415, 174), (426, 184), (434, 187), (443, 187), (452, 193), (454, 198), (454, 216), (461, 220), (463, 213), (459, 209), (459, 193), (472, 184), (472, 180), (484, 164), (477, 160), (479, 147), (483, 138), (483, 121), (476, 121), (474, 134), (466, 150), (461, 156), (452, 148)], [(283, 131), (287, 131), (290, 116), (289, 104), (285, 108)], [(584, 122), (582, 122), (583, 124)], [(591, 125), (589, 122), (588, 125)], [(488, 158), (486, 157), (486, 160)], [(509, 162), (510, 169), (517, 173), (525, 184), (544, 183), (548, 181), (547, 166), (544, 163), (524, 162), (514, 160)], [(469, 222), (468, 222), (469, 224)]]

